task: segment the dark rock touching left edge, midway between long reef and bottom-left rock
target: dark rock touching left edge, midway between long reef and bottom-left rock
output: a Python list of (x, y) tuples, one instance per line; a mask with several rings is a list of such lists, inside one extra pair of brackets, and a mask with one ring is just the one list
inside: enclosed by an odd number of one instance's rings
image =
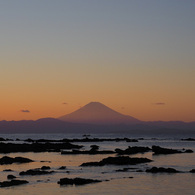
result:
[(8, 157), (8, 156), (4, 156), (4, 157), (0, 158), (1, 165), (12, 164), (12, 163), (29, 163), (29, 162), (33, 162), (33, 161), (29, 158), (23, 158), (23, 157), (12, 158), (12, 157)]

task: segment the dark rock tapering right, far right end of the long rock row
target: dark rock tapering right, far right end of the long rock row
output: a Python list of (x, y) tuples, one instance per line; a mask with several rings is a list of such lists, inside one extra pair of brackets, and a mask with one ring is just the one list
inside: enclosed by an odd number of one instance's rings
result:
[(169, 148), (162, 148), (160, 146), (152, 146), (154, 154), (177, 154), (177, 153), (192, 153), (192, 150), (175, 150)]

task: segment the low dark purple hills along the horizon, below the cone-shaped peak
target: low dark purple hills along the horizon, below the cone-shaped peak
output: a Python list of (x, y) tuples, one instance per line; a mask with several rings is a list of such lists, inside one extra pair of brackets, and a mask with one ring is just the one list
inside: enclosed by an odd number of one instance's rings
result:
[(195, 137), (195, 122), (154, 121), (132, 124), (84, 124), (65, 122), (55, 118), (36, 121), (0, 121), (0, 134), (7, 133), (129, 133), (130, 135), (180, 135)]

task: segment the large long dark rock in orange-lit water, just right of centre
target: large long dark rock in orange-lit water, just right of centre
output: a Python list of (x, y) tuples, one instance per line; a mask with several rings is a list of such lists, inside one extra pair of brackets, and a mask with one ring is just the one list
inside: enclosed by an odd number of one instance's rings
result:
[(147, 163), (152, 160), (148, 158), (130, 158), (128, 156), (108, 157), (99, 162), (87, 162), (80, 166), (104, 166), (104, 165), (135, 165), (139, 163)]

